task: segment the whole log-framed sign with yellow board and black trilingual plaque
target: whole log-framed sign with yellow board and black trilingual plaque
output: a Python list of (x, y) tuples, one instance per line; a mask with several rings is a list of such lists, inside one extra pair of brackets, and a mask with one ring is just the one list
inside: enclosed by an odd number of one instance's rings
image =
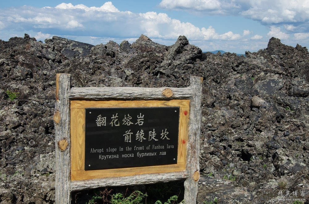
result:
[(71, 88), (57, 74), (56, 203), (71, 192), (185, 180), (196, 203), (202, 78), (187, 88)]

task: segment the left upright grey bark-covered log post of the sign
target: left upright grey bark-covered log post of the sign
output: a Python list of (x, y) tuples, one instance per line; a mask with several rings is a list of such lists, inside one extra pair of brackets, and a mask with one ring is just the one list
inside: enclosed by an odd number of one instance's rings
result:
[[(59, 123), (55, 122), (55, 201), (58, 204), (71, 203), (70, 194), (70, 74), (57, 74), (55, 112), (59, 112)], [(58, 146), (59, 141), (67, 141), (63, 151)]]

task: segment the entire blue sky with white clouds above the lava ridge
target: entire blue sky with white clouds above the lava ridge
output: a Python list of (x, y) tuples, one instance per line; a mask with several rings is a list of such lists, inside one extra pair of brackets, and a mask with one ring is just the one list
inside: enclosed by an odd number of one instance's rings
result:
[(2, 2), (0, 39), (28, 33), (93, 45), (134, 42), (141, 34), (174, 44), (185, 35), (203, 51), (243, 54), (267, 47), (271, 37), (309, 46), (309, 0), (159, 0)]

